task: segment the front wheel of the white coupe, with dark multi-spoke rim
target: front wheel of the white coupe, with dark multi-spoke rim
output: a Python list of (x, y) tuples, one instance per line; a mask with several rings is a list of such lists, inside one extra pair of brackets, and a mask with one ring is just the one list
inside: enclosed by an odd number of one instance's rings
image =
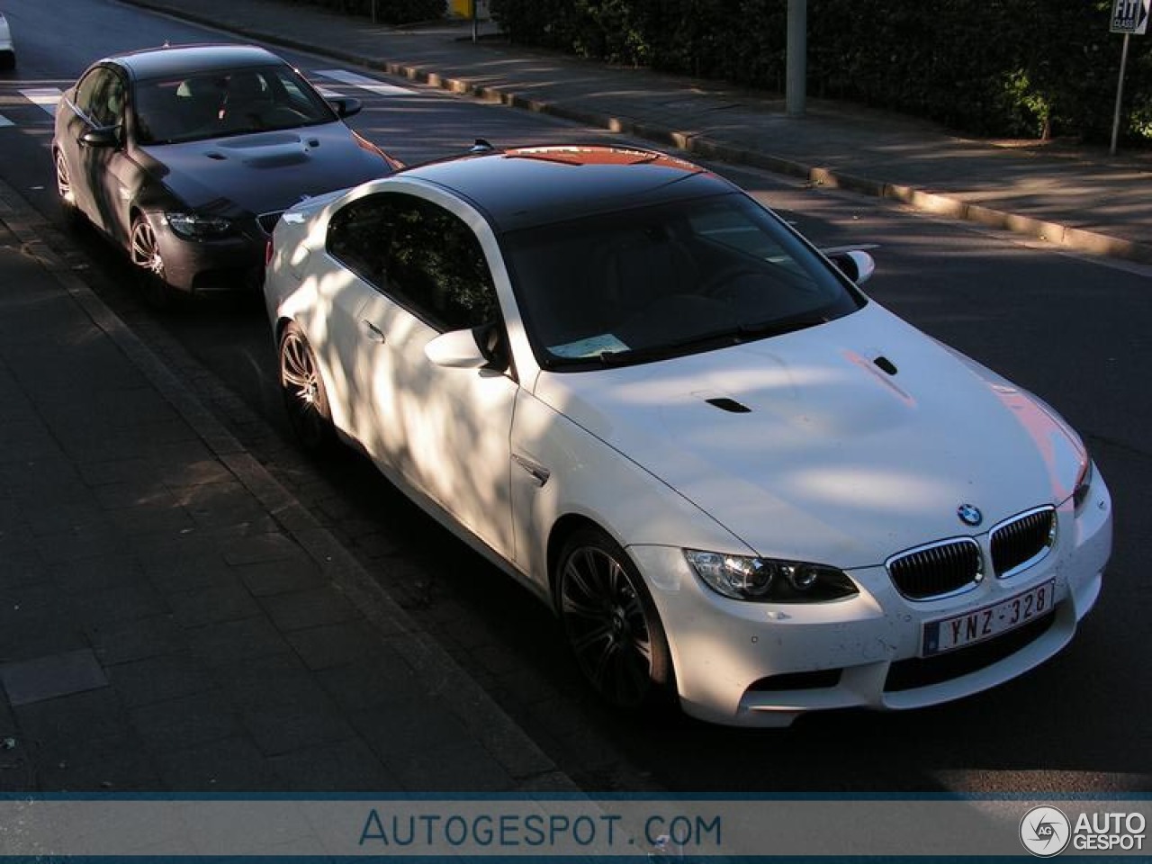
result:
[(556, 601), (581, 673), (613, 707), (670, 700), (672, 655), (655, 605), (628, 554), (604, 532), (582, 529), (560, 553)]

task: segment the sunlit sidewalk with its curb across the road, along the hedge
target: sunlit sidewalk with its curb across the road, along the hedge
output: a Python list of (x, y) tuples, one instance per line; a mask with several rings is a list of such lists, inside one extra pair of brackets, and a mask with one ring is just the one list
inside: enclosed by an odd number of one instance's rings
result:
[[(1068, 249), (1152, 263), (1152, 152), (964, 139), (926, 121), (473, 43), (469, 22), (395, 29), (283, 0), (129, 0), (454, 92), (894, 198)], [(494, 25), (484, 24), (494, 35)], [(515, 144), (517, 142), (501, 142)]]

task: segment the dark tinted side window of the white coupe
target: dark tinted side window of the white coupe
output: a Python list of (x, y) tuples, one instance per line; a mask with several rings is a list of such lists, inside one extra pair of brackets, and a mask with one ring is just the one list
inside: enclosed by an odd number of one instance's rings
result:
[(500, 316), (479, 240), (447, 210), (408, 195), (361, 198), (328, 226), (328, 252), (441, 331)]

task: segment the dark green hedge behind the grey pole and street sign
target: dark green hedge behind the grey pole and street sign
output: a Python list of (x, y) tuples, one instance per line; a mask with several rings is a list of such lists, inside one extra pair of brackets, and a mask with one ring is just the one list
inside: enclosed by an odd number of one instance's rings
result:
[[(972, 134), (1106, 141), (1111, 0), (809, 0), (809, 93)], [(514, 40), (782, 91), (787, 0), (492, 0)], [(1152, 144), (1152, 35), (1132, 37), (1122, 134)]]

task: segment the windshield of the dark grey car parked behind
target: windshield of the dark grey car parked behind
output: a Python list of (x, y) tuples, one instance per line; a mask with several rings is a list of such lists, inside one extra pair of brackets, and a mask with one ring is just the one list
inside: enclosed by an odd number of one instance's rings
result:
[(288, 66), (139, 81), (134, 104), (141, 144), (291, 129), (336, 119), (328, 104)]

